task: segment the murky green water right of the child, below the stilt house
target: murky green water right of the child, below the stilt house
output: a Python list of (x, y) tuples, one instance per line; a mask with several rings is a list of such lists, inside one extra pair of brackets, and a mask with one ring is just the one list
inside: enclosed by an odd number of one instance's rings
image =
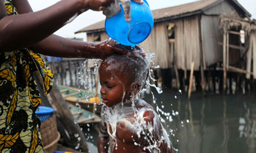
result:
[[(154, 96), (164, 112), (178, 112), (172, 122), (159, 112), (178, 153), (256, 153), (255, 95), (203, 97), (201, 92), (193, 92), (188, 100), (186, 94), (165, 90)], [(144, 99), (156, 108), (151, 94)], [(89, 141), (96, 145), (97, 131), (91, 129), (87, 134), (93, 135)]]

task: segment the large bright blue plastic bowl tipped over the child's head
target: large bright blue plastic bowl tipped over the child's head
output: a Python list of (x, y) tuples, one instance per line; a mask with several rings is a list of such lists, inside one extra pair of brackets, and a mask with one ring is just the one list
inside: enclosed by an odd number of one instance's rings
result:
[(154, 26), (152, 11), (146, 0), (142, 5), (131, 1), (131, 22), (126, 22), (123, 7), (112, 18), (105, 20), (107, 35), (122, 45), (135, 46), (144, 41)]

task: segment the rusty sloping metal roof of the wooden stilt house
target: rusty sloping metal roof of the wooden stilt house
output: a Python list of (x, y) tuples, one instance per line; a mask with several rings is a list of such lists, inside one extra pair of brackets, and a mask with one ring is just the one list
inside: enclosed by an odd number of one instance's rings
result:
[[(185, 16), (191, 16), (194, 14), (202, 13), (204, 10), (207, 10), (225, 0), (199, 0), (192, 3), (186, 3), (183, 5), (172, 6), (169, 8), (162, 8), (159, 10), (153, 10), (154, 22), (166, 21), (168, 19), (176, 19)], [(241, 6), (237, 0), (229, 0), (229, 2), (242, 12), (242, 16), (251, 16), (251, 14)], [(105, 20), (87, 26), (75, 33), (81, 32), (102, 32), (105, 30)]]

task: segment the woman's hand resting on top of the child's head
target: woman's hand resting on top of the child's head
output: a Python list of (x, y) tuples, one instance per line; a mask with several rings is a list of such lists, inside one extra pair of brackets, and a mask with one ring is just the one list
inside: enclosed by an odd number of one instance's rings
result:
[(124, 46), (117, 41), (109, 39), (102, 41), (96, 45), (96, 56), (100, 59), (105, 59), (108, 55), (113, 53), (120, 53), (123, 55), (131, 56), (132, 54), (136, 57), (141, 54), (141, 56), (145, 57), (145, 52), (139, 48), (139, 46), (130, 47), (130, 46)]

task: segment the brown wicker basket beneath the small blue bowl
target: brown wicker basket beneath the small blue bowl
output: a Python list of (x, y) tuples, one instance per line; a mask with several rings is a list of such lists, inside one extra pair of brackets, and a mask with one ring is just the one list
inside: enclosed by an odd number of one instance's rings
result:
[(49, 152), (56, 150), (60, 134), (57, 130), (55, 113), (52, 113), (52, 115), (41, 124), (40, 132), (45, 152), (48, 152), (47, 149), (50, 149)]

